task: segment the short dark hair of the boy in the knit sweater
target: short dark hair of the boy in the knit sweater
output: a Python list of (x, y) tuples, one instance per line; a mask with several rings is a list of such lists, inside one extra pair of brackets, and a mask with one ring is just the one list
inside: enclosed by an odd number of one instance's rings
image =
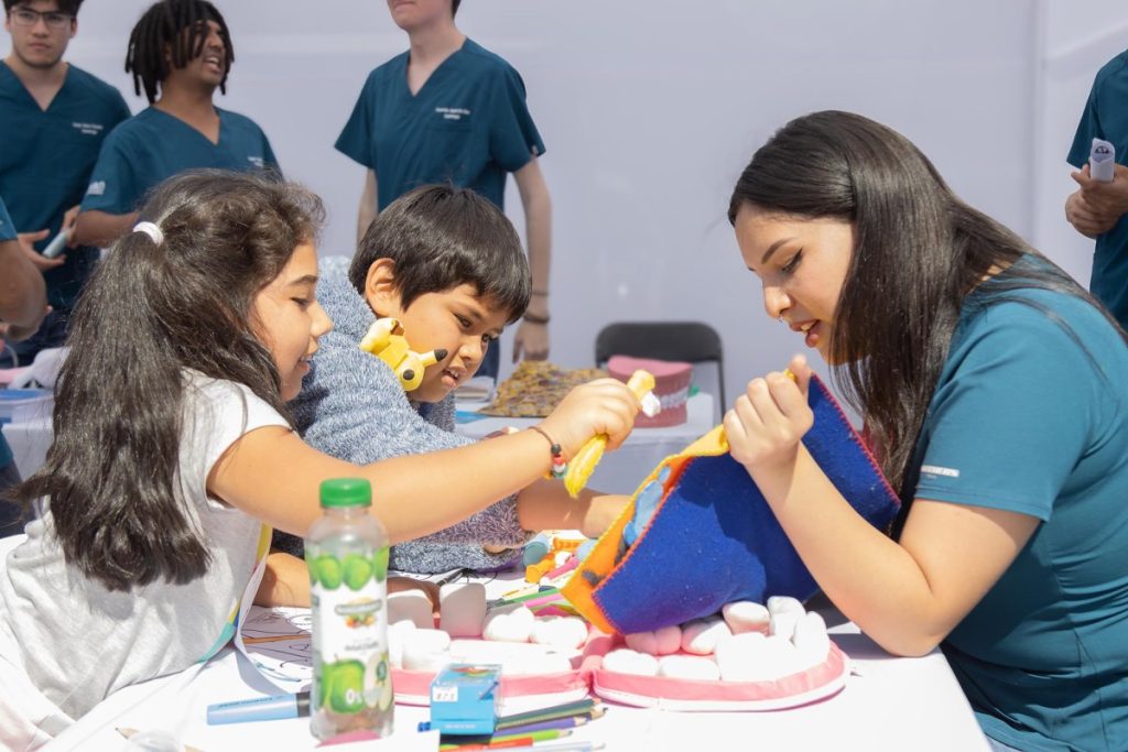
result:
[(468, 188), (421, 186), (372, 220), (349, 268), (362, 295), (368, 269), (380, 258), (396, 263), (404, 308), (461, 284), (509, 311), (510, 324), (529, 307), (532, 281), (517, 230), (493, 202)]

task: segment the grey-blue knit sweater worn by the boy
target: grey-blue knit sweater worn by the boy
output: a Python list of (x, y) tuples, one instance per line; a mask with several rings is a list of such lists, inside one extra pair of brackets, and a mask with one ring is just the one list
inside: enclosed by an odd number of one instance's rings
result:
[[(349, 264), (342, 256), (320, 263), (317, 299), (333, 319), (333, 330), (320, 338), (312, 370), (290, 402), (302, 437), (356, 465), (473, 443), (453, 432), (452, 396), (434, 405), (413, 405), (388, 364), (360, 348), (376, 315), (349, 282)], [(520, 547), (528, 537), (517, 520), (517, 499), (510, 496), (450, 528), (394, 546), (390, 565), (418, 573), (496, 568), (513, 560), (515, 551), (487, 554), (481, 543)], [(300, 555), (301, 540), (293, 536), (275, 533), (274, 545)]]

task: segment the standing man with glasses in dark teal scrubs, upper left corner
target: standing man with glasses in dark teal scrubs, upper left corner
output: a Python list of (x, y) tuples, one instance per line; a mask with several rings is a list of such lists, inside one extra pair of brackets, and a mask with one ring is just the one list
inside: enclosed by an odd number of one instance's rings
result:
[[(12, 220), (35, 233), (37, 250), (78, 214), (98, 150), (115, 125), (130, 116), (116, 88), (63, 60), (78, 33), (82, 0), (5, 0), (11, 51), (0, 62), (0, 195)], [(15, 346), (21, 362), (58, 347), (70, 311), (94, 271), (98, 249), (76, 246), (32, 262), (43, 272), (53, 308), (38, 335)]]

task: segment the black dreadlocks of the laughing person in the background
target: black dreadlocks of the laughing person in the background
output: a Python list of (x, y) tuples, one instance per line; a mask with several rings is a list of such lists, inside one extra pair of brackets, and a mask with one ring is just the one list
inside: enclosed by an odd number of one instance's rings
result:
[(185, 68), (203, 52), (208, 21), (219, 24), (223, 37), (223, 79), (219, 90), (227, 94), (235, 47), (227, 21), (208, 0), (160, 0), (144, 12), (130, 33), (125, 53), (125, 72), (133, 73), (133, 91), (140, 95), (143, 87), (149, 104), (156, 101), (169, 71)]

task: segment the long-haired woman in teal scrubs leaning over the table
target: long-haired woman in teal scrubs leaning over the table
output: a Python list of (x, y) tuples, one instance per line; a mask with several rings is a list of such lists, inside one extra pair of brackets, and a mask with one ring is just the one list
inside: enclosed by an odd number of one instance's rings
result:
[(994, 749), (1128, 750), (1128, 335), (858, 115), (776, 132), (729, 219), (900, 489), (889, 537), (816, 465), (803, 356), (749, 382), (731, 453), (823, 593), (890, 653), (938, 646)]

